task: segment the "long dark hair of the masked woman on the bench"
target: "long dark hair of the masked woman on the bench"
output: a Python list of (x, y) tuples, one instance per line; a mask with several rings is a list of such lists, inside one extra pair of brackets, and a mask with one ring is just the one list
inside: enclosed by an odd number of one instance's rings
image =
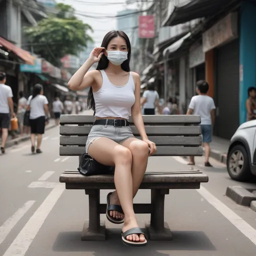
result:
[[(101, 47), (104, 47), (105, 49), (107, 48), (108, 43), (114, 38), (114, 37), (122, 37), (125, 41), (126, 41), (126, 45), (128, 48), (128, 55), (127, 55), (127, 59), (125, 61), (123, 61), (121, 63), (121, 68), (126, 71), (129, 72), (130, 71), (130, 66), (129, 66), (129, 62), (130, 62), (130, 53), (131, 53), (131, 49), (130, 49), (130, 40), (127, 36), (127, 34), (125, 34), (123, 31), (119, 31), (119, 30), (112, 30), (109, 31), (103, 38), (102, 43), (101, 43)], [(98, 61), (96, 70), (102, 70), (107, 68), (108, 66), (108, 59), (106, 57), (105, 54), (102, 54), (100, 60)], [(93, 93), (92, 93), (92, 87), (90, 86), (89, 92), (88, 92), (88, 98), (87, 98), (87, 108), (88, 109), (93, 109), (94, 110), (94, 114), (95, 114), (95, 101), (93, 98)]]

